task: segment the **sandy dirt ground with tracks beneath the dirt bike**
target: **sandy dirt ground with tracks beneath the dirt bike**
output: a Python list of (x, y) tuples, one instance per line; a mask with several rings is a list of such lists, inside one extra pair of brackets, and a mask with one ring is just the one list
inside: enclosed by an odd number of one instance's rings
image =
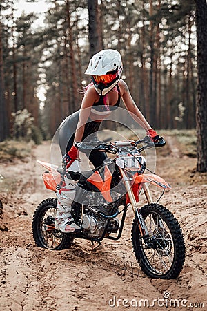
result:
[[(0, 164), (5, 177), (0, 185), (0, 310), (207, 310), (207, 185), (206, 175), (192, 172), (195, 158), (183, 156), (179, 144), (176, 152), (169, 146), (157, 155), (157, 173), (172, 185), (160, 203), (175, 214), (186, 241), (184, 269), (177, 279), (164, 281), (139, 270), (130, 238), (131, 211), (120, 241), (103, 241), (93, 249), (89, 241), (77, 240), (56, 252), (34, 245), (34, 210), (54, 196), (44, 188), (43, 169), (36, 162), (49, 160), (49, 149), (44, 142), (25, 162)], [(170, 299), (177, 300), (175, 308)]]

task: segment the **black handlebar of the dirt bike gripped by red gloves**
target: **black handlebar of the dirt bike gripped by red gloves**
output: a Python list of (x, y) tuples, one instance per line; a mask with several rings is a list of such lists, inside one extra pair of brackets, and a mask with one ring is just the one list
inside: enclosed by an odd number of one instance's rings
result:
[[(145, 144), (141, 148), (137, 148), (137, 145)], [(160, 138), (155, 143), (146, 136), (141, 140), (118, 140), (115, 142), (101, 142), (101, 141), (89, 141), (89, 142), (76, 142), (77, 147), (80, 151), (92, 150), (96, 149), (99, 151), (106, 151), (108, 153), (116, 154), (118, 151), (121, 150), (121, 147), (134, 147), (137, 151), (141, 152), (145, 149), (149, 149), (152, 147), (163, 147), (166, 144), (164, 138)]]

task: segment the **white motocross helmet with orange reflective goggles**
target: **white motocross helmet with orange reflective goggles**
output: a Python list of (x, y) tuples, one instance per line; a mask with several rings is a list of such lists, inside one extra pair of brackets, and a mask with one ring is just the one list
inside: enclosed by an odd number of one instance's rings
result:
[(101, 50), (93, 55), (86, 69), (92, 75), (92, 82), (99, 95), (106, 95), (114, 88), (122, 73), (121, 55), (117, 50)]

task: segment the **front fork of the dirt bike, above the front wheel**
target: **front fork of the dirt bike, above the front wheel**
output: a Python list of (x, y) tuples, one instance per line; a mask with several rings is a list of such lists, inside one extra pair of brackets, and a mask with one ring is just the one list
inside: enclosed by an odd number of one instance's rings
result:
[[(130, 184), (130, 178), (128, 178), (128, 176), (126, 176), (126, 173), (124, 173), (123, 169), (121, 169), (120, 167), (119, 167), (119, 169), (121, 171), (121, 175), (122, 175), (123, 180), (124, 180), (124, 185), (126, 187), (126, 191), (128, 193), (128, 196), (129, 196), (129, 199), (130, 199), (130, 202), (132, 205), (132, 210), (133, 210), (135, 217), (137, 219), (137, 224), (139, 225), (139, 231), (141, 233), (141, 237), (143, 238), (144, 243), (147, 245), (147, 247), (151, 248), (153, 245), (152, 245), (152, 241), (150, 239), (150, 234), (149, 234), (148, 228), (146, 227), (146, 224), (144, 222), (144, 218), (141, 214), (141, 210), (137, 206), (137, 202), (135, 200), (135, 195), (132, 191), (132, 187)], [(144, 189), (144, 193), (146, 195), (146, 199), (147, 199), (148, 203), (152, 202), (152, 197), (151, 197), (151, 194), (150, 194), (148, 187), (146, 187), (146, 185), (143, 185), (142, 187)]]

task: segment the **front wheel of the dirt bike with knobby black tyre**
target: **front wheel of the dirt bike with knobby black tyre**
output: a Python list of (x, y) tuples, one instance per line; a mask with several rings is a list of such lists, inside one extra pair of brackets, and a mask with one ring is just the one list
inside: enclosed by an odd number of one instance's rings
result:
[(152, 247), (139, 231), (137, 218), (132, 224), (132, 246), (141, 269), (151, 278), (175, 279), (185, 261), (185, 243), (181, 227), (166, 207), (151, 203), (141, 208)]

